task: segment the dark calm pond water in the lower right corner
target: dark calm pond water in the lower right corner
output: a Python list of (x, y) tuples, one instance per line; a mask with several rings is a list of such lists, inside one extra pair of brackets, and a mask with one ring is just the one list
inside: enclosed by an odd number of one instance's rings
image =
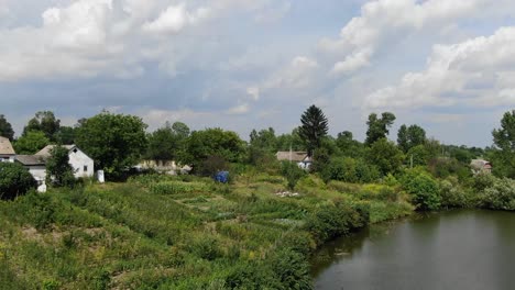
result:
[(450, 211), (373, 225), (322, 247), (316, 289), (515, 290), (515, 213)]

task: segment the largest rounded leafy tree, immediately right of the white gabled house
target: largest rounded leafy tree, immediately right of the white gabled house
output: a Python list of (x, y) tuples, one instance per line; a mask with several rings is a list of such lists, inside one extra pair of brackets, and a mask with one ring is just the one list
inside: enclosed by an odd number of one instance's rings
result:
[(97, 168), (117, 176), (140, 160), (146, 148), (145, 129), (139, 116), (103, 111), (77, 129), (76, 143)]

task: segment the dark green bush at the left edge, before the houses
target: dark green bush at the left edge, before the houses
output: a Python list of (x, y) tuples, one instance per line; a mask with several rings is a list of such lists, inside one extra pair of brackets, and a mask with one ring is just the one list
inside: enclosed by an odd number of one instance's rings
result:
[(36, 181), (23, 166), (0, 163), (0, 199), (13, 199), (35, 188)]

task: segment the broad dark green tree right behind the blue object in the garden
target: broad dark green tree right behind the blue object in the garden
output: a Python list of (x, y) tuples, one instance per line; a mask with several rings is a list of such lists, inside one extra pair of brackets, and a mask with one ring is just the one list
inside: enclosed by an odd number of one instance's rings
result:
[(206, 129), (195, 131), (185, 141), (185, 154), (182, 161), (191, 164), (194, 170), (200, 171), (202, 163), (210, 156), (219, 156), (229, 163), (242, 160), (245, 143), (231, 131)]

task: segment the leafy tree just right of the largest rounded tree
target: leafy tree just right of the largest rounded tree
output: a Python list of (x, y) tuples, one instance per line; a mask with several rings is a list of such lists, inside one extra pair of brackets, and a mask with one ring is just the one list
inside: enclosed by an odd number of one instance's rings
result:
[(184, 150), (184, 142), (189, 135), (189, 129), (184, 123), (166, 122), (149, 135), (146, 158), (153, 160), (175, 160)]

